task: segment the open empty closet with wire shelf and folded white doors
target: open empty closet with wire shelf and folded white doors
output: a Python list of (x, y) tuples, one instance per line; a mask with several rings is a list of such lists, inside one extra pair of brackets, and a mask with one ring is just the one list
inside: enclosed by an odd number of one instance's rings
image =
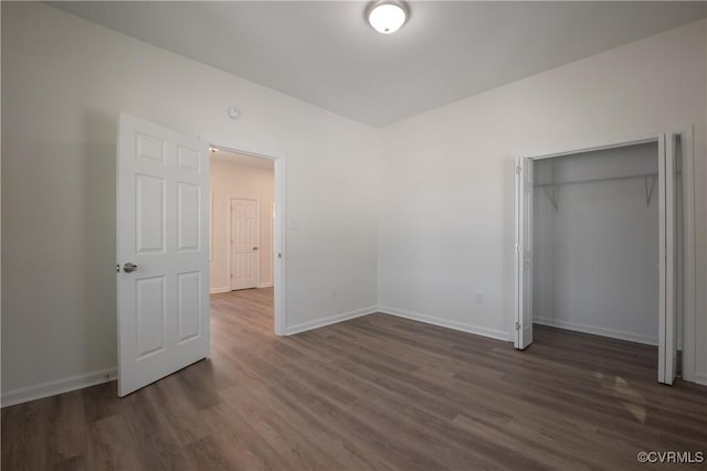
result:
[(516, 347), (531, 344), (534, 325), (601, 335), (646, 345), (661, 383), (689, 376), (688, 147), (692, 135), (665, 133), (517, 159)]

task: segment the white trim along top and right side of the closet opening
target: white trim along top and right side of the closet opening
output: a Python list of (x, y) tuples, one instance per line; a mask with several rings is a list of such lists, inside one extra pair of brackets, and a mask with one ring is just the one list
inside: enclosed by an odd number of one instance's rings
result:
[[(694, 149), (694, 126), (683, 126), (661, 132), (648, 132), (642, 136), (627, 138), (610, 143), (581, 146), (570, 148), (566, 151), (553, 151), (551, 153), (539, 153), (534, 156), (524, 156), (526, 159), (544, 160), (556, 157), (572, 156), (605, 149), (616, 149), (629, 146), (636, 146), (648, 142), (661, 142), (665, 135), (679, 135), (682, 148), (682, 170), (683, 170), (683, 362), (682, 377), (688, 382), (696, 381), (695, 355), (696, 355), (696, 322), (695, 322), (695, 149)], [(514, 169), (516, 164), (514, 162)], [(514, 221), (515, 224), (515, 221)], [(514, 255), (516, 249), (514, 247)], [(517, 296), (517, 295), (516, 295)], [(510, 330), (513, 338), (516, 335), (516, 322), (519, 311), (516, 310), (513, 317), (513, 329)]]

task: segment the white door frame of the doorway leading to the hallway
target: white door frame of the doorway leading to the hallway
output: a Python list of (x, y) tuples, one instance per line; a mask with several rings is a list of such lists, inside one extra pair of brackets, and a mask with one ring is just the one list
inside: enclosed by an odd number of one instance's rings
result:
[[(275, 194), (273, 202), (275, 204), (275, 215), (273, 217), (273, 293), (274, 293), (274, 333), (275, 335), (286, 335), (287, 328), (287, 244), (286, 244), (286, 231), (285, 221), (287, 212), (287, 199), (286, 199), (286, 167), (284, 157), (268, 156), (265, 153), (252, 152), (247, 150), (241, 150), (238, 148), (221, 146), (218, 143), (210, 143), (211, 148), (217, 150), (223, 150), (225, 152), (240, 153), (241, 156), (254, 157), (257, 159), (267, 159), (273, 162), (274, 165), (274, 189)], [(235, 197), (235, 196), (233, 196)], [(257, 200), (256, 200), (257, 201)], [(229, 196), (229, 211), (231, 208), (231, 196)], [(229, 237), (231, 234), (231, 216), (229, 221)], [(229, 271), (231, 271), (230, 250), (231, 244), (229, 242)], [(231, 280), (229, 279), (229, 289), (231, 287)]]

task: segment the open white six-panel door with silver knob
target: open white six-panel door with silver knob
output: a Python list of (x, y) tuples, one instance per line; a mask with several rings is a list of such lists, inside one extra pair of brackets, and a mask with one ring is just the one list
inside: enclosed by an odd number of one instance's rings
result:
[(118, 396), (209, 356), (209, 146), (120, 114)]

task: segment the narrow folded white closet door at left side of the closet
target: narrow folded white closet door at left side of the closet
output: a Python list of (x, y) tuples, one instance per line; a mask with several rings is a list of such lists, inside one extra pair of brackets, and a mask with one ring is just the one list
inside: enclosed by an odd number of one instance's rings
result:
[(515, 165), (516, 338), (523, 350), (532, 343), (532, 160)]

